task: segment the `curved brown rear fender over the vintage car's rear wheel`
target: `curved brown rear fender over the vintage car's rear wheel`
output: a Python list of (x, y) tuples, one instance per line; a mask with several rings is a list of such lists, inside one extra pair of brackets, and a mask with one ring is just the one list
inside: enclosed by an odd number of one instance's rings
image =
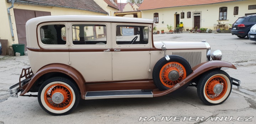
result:
[(20, 96), (27, 93), (31, 89), (33, 84), (37, 81), (38, 78), (40, 78), (44, 74), (50, 73), (50, 72), (60, 72), (60, 73), (64, 73), (64, 74), (68, 75), (78, 85), (78, 87), (80, 89), (80, 92), (81, 92), (81, 97), (82, 98), (85, 97), (84, 95), (85, 95), (85, 91), (86, 91), (85, 88), (86, 87), (85, 87), (85, 84), (84, 84), (85, 83), (84, 77), (82, 77), (80, 72), (78, 72), (73, 67), (65, 65), (65, 64), (60, 64), (60, 63), (48, 64), (48, 65), (43, 66), (42, 68), (40, 68), (37, 71), (37, 73), (32, 77), (32, 79), (30, 80), (30, 82), (26, 86), (26, 89), (23, 92), (21, 92)]

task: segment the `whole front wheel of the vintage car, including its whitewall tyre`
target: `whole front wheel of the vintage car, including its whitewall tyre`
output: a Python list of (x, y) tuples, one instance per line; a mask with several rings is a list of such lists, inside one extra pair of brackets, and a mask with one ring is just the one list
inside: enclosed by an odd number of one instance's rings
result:
[(197, 84), (197, 95), (207, 105), (219, 105), (226, 101), (232, 89), (229, 75), (215, 70), (202, 75)]

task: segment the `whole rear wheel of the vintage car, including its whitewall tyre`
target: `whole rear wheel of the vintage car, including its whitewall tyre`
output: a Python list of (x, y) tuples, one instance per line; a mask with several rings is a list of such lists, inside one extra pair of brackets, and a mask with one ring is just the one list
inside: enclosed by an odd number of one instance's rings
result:
[(49, 114), (66, 115), (78, 106), (80, 95), (73, 81), (62, 78), (50, 78), (38, 91), (39, 105)]

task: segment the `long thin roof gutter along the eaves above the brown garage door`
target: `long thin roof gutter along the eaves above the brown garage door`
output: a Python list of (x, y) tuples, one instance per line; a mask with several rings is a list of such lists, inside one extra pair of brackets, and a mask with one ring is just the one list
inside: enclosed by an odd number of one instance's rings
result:
[(86, 10), (86, 11), (91, 11), (91, 12), (97, 12), (97, 13), (108, 14), (108, 12), (98, 12), (98, 11), (92, 11), (92, 10), (87, 10), (87, 9), (80, 9), (80, 8), (76, 8), (76, 7), (60, 6), (60, 5), (53, 5), (53, 4), (42, 4), (42, 3), (31, 2), (31, 1), (16, 0), (16, 2), (23, 3), (23, 4), (37, 4), (37, 5), (43, 5), (43, 6), (63, 7), (63, 8), (69, 8), (69, 9)]

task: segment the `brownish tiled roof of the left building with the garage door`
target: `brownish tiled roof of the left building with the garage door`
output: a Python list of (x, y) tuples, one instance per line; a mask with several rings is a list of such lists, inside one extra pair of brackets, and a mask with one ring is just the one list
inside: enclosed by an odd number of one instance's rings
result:
[(108, 14), (94, 0), (17, 0), (28, 4), (42, 4), (46, 6), (64, 7), (70, 9), (86, 10), (91, 12)]

